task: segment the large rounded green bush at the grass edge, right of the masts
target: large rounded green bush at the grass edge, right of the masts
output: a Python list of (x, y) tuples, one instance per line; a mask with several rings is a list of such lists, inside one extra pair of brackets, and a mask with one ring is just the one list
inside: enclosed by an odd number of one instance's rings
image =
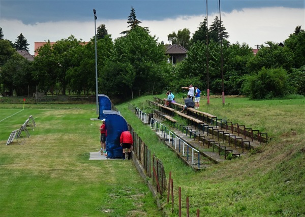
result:
[(281, 68), (263, 67), (257, 74), (248, 76), (242, 92), (251, 99), (271, 99), (282, 97), (290, 92), (287, 71)]

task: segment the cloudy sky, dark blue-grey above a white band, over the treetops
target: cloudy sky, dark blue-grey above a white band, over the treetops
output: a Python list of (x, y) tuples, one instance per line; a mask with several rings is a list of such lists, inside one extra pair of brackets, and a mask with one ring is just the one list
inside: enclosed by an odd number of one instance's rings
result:
[[(219, 0), (207, 0), (208, 24), (219, 17)], [(34, 42), (67, 39), (89, 41), (96, 25), (105, 24), (112, 39), (127, 30), (131, 7), (141, 26), (148, 27), (158, 42), (167, 35), (189, 28), (191, 36), (206, 16), (206, 0), (0, 0), (0, 27), (4, 38), (16, 41), (22, 33), (34, 54)], [(266, 41), (283, 42), (296, 26), (305, 29), (303, 0), (220, 0), (221, 20), (231, 43), (250, 47)]]

